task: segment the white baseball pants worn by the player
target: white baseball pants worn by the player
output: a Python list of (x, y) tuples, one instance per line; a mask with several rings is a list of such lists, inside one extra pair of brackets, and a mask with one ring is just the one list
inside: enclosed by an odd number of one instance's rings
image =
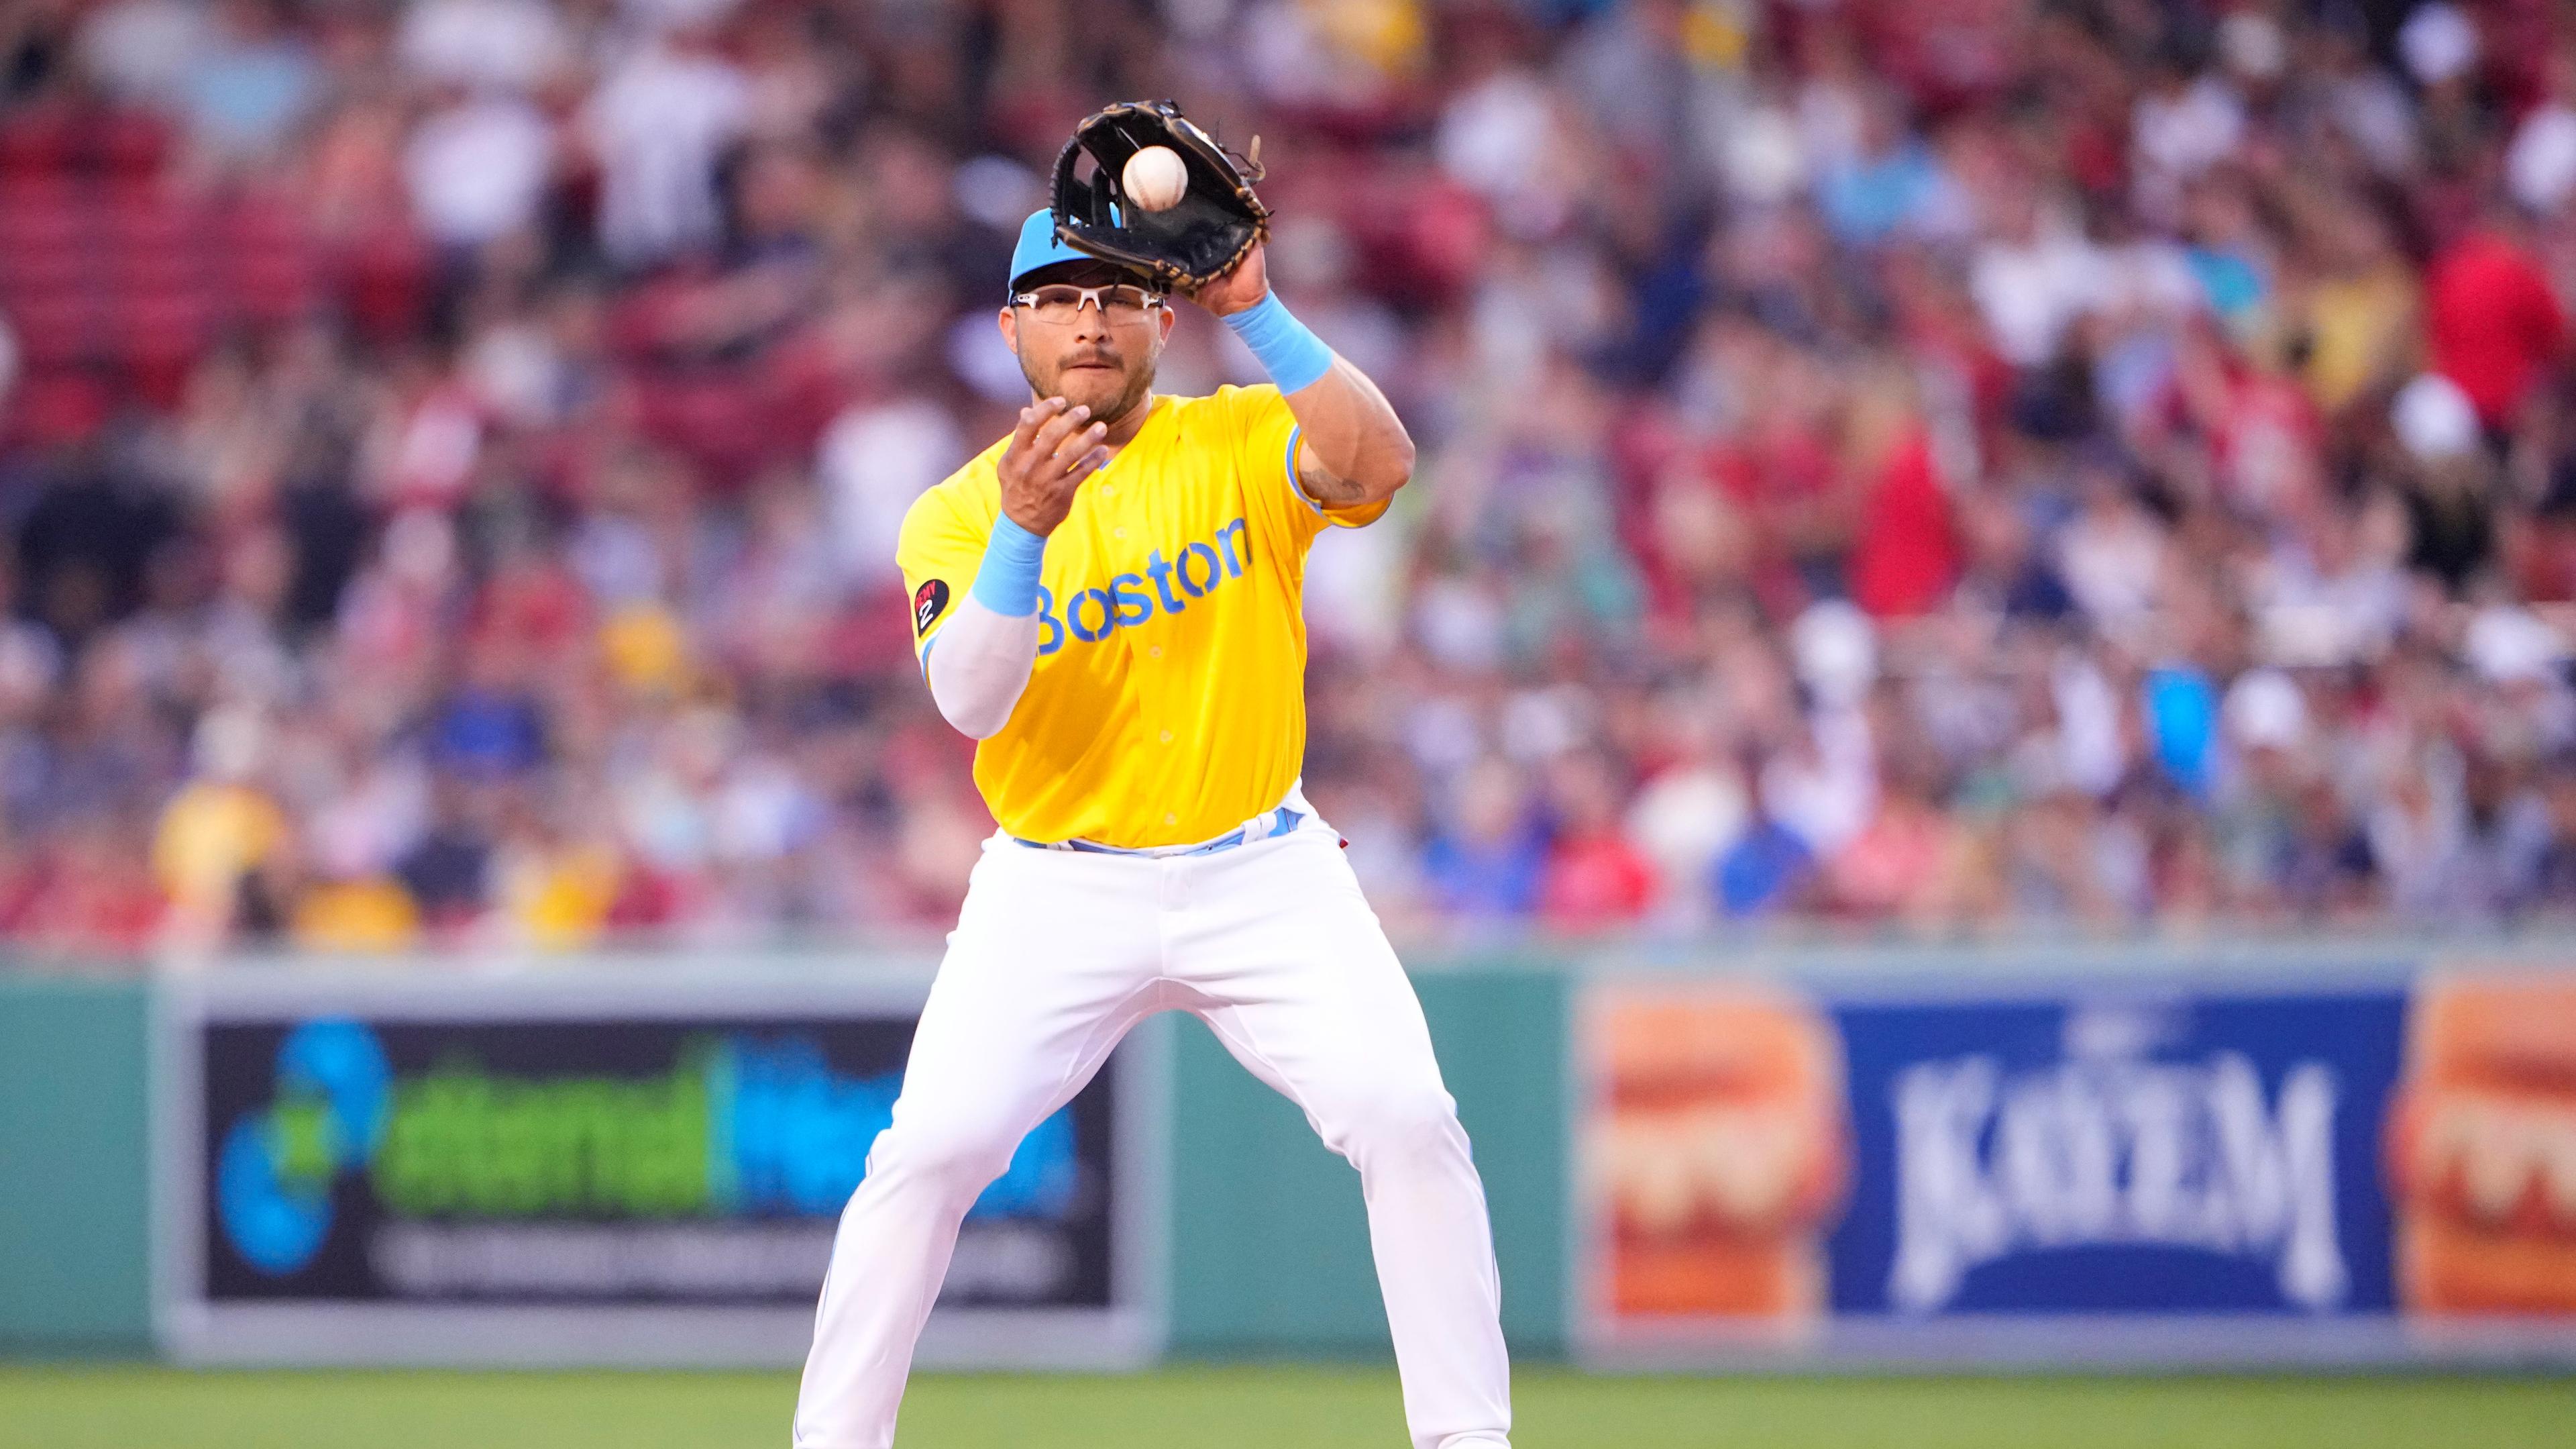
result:
[(1414, 1449), (1507, 1449), (1484, 1183), (1422, 1003), (1340, 838), (1311, 817), (1206, 856), (984, 843), (894, 1124), (840, 1214), (796, 1449), (894, 1444), (912, 1343), (966, 1209), (1136, 1021), (1172, 1008), (1360, 1168)]

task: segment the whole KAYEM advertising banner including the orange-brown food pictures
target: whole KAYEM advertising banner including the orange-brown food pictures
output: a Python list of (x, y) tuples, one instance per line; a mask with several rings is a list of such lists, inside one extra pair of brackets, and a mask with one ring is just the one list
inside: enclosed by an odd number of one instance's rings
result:
[[(1927, 998), (1613, 977), (1574, 1036), (1592, 1361), (2576, 1351), (2576, 1318), (2548, 1320), (2576, 1315), (2566, 977)], [(2517, 1336), (2424, 1330), (2478, 1315)]]

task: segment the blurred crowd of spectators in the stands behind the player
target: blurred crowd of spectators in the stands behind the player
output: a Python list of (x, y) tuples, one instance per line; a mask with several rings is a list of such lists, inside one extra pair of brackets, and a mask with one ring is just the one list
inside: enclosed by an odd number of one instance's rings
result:
[(1391, 926), (2576, 910), (2561, 3), (15, 0), (0, 946), (943, 928), (894, 534), (1141, 95), (1419, 441)]

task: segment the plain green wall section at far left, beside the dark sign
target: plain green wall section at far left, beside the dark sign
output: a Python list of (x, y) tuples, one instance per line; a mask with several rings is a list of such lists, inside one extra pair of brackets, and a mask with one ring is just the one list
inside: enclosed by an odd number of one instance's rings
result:
[(147, 1354), (149, 995), (0, 975), (0, 1351)]

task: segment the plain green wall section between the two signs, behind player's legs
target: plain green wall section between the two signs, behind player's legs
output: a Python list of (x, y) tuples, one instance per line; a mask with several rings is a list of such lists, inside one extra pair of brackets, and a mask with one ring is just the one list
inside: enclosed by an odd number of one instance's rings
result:
[[(1414, 977), (1476, 1145), (1515, 1354), (1564, 1351), (1564, 993), (1556, 972)], [(1360, 1176), (1195, 1021), (1172, 1052), (1172, 1351), (1388, 1348)]]

